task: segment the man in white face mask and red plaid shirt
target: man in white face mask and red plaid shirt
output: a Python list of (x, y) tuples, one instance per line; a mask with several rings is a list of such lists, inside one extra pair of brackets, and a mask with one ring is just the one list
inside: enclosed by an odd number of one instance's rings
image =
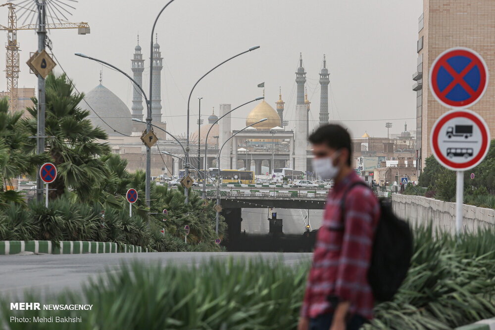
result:
[(333, 179), (335, 185), (316, 237), (298, 330), (357, 330), (373, 318), (367, 272), (380, 206), (369, 188), (349, 189), (361, 179), (351, 167), (346, 129), (321, 126), (309, 141), (313, 170), (323, 180)]

